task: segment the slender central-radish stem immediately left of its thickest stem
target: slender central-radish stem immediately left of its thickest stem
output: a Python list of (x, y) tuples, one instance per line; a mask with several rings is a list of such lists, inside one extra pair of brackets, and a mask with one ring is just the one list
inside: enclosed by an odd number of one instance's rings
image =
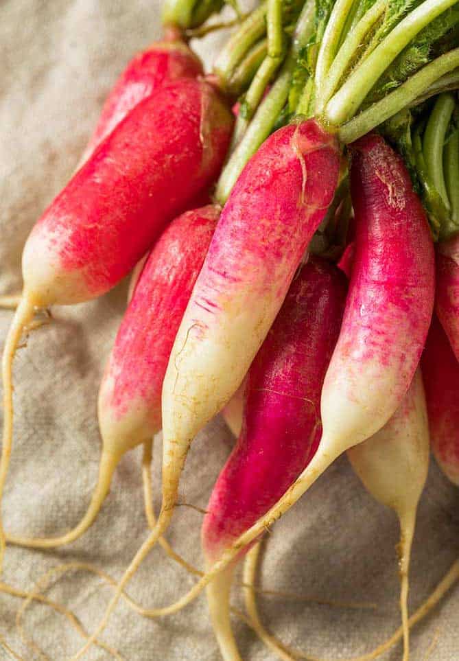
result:
[(356, 54), (360, 51), (364, 37), (384, 14), (387, 5), (388, 0), (377, 0), (344, 38), (342, 46), (328, 71), (327, 78), (324, 80), (320, 98), (318, 98), (318, 113), (324, 111), (344, 75), (344, 71), (349, 68)]

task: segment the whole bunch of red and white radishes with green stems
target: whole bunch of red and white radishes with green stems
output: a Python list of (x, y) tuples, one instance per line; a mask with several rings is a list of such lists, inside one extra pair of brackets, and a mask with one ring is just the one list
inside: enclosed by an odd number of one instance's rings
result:
[(399, 517), (406, 661), (429, 436), (459, 483), (459, 2), (267, 0), (239, 17), (204, 76), (185, 38), (223, 4), (165, 3), (165, 42), (121, 74), (78, 170), (27, 240), (3, 351), (0, 499), (12, 360), (36, 308), (98, 297), (143, 261), (99, 391), (89, 509), (55, 538), (0, 523), (1, 557), (7, 541), (77, 539), (121, 456), (143, 444), (148, 472), (163, 430), (161, 511), (156, 520), (145, 476), (152, 530), (80, 658), (156, 542), (196, 572), (163, 535), (191, 442), (224, 410), (238, 440), (202, 526), (205, 573), (175, 604), (142, 614), (176, 612), (207, 588), (222, 656), (240, 659), (235, 564), (348, 452)]

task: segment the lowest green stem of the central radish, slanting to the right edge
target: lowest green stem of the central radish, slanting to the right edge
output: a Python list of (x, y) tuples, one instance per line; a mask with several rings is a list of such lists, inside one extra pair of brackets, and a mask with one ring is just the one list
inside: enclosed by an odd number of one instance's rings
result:
[(383, 121), (409, 106), (436, 80), (458, 66), (459, 48), (449, 51), (445, 55), (440, 55), (420, 71), (414, 73), (411, 78), (384, 99), (366, 108), (360, 115), (344, 124), (338, 130), (340, 140), (348, 144), (373, 130), (378, 124), (382, 124)]

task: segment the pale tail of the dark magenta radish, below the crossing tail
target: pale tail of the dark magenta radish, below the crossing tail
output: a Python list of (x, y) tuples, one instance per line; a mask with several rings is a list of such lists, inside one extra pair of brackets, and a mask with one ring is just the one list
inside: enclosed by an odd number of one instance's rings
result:
[(224, 661), (242, 661), (231, 628), (230, 593), (233, 572), (233, 566), (226, 568), (206, 589), (213, 631)]

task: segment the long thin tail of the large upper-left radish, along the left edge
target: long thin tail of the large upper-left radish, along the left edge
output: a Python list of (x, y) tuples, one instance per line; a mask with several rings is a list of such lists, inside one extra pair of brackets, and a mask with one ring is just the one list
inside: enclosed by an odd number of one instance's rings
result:
[(3, 489), (10, 465), (10, 456), (13, 439), (13, 384), (12, 365), (19, 340), (24, 327), (34, 316), (34, 305), (24, 296), (19, 303), (16, 313), (8, 332), (3, 349), (1, 376), (3, 381), (3, 442), (1, 445), (0, 460), (0, 575), (3, 570), (3, 555), (5, 554), (6, 540), (3, 522), (1, 518), (1, 500)]

